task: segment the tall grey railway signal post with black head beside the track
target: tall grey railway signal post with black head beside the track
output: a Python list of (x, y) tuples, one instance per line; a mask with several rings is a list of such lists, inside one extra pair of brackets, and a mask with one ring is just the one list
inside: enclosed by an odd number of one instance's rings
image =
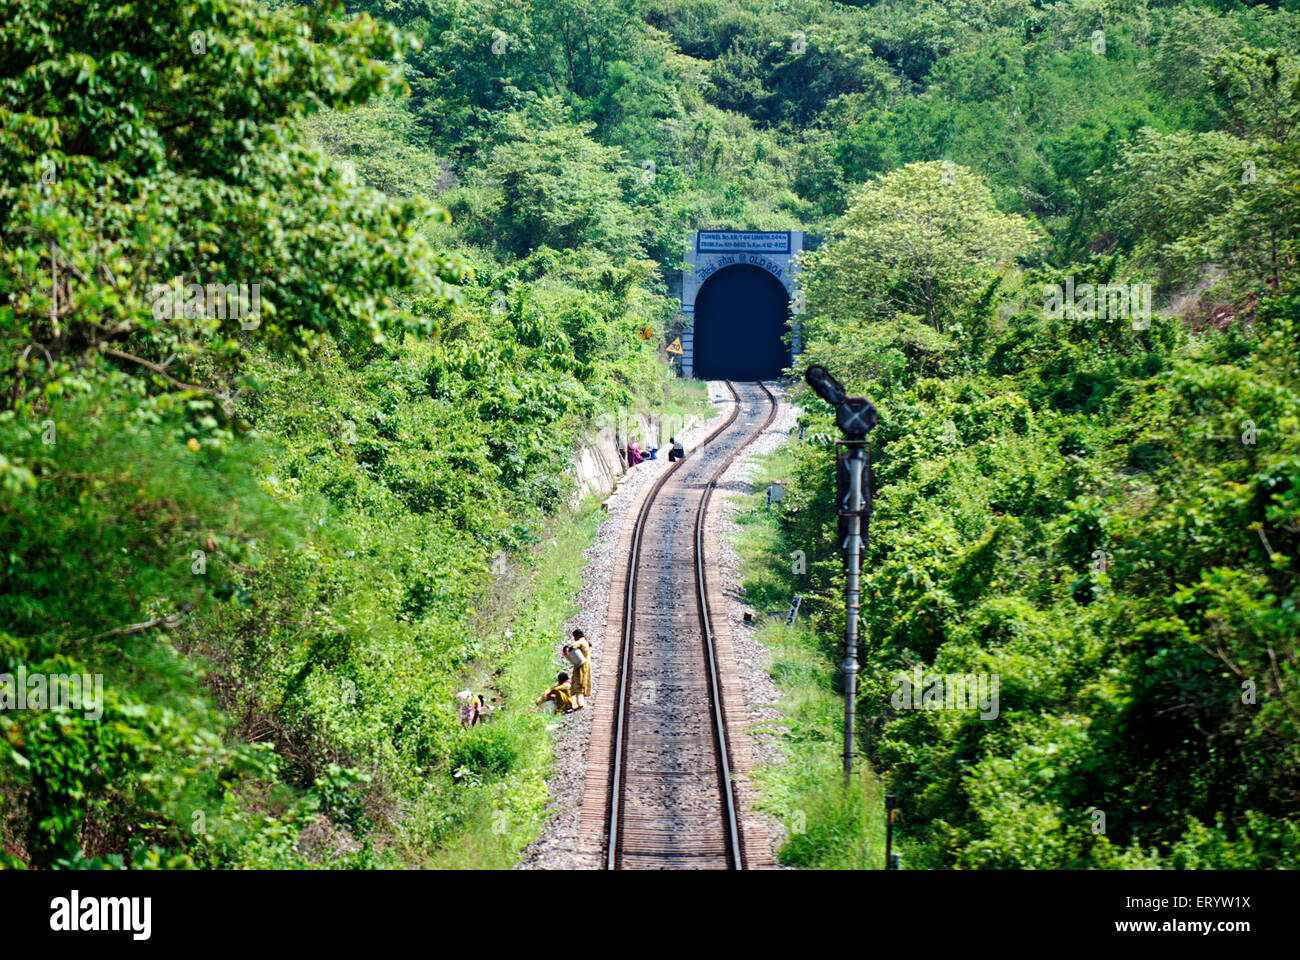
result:
[(844, 433), (836, 441), (842, 451), (836, 457), (836, 513), (841, 518), (844, 550), (844, 777), (853, 777), (855, 744), (854, 721), (858, 693), (858, 607), (862, 548), (866, 544), (866, 519), (871, 514), (871, 446), (867, 432), (876, 425), (876, 408), (866, 397), (849, 397), (840, 381), (814, 364), (803, 373), (818, 397), (835, 407), (835, 423)]

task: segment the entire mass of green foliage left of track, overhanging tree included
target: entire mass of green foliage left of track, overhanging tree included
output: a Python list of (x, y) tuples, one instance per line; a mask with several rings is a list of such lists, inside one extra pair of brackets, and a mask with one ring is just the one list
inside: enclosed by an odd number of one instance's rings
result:
[(0, 713), (6, 865), (508, 865), (536, 830), (569, 451), (688, 401), (637, 336), (640, 181), (556, 118), (448, 190), (417, 39), (341, 14), (0, 26), (0, 674), (104, 688)]

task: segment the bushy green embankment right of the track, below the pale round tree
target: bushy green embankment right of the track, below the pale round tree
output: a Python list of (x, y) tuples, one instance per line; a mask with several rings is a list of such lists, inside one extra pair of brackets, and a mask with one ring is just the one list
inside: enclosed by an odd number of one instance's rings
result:
[[(880, 410), (859, 715), (910, 864), (1294, 866), (1296, 298), (1190, 332), (1036, 294), (948, 333), (823, 328), (807, 356)], [(805, 397), (785, 536), (829, 639), (833, 427)], [(1000, 705), (913, 676), (997, 682)]]

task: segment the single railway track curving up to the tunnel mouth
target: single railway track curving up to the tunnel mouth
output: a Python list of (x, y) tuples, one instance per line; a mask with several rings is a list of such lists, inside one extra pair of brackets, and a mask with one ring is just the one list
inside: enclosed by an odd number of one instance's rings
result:
[(746, 866), (705, 522), (718, 479), (772, 423), (776, 398), (762, 382), (742, 384), (745, 397), (727, 388), (731, 416), (655, 483), (632, 529), (604, 754), (607, 869)]

